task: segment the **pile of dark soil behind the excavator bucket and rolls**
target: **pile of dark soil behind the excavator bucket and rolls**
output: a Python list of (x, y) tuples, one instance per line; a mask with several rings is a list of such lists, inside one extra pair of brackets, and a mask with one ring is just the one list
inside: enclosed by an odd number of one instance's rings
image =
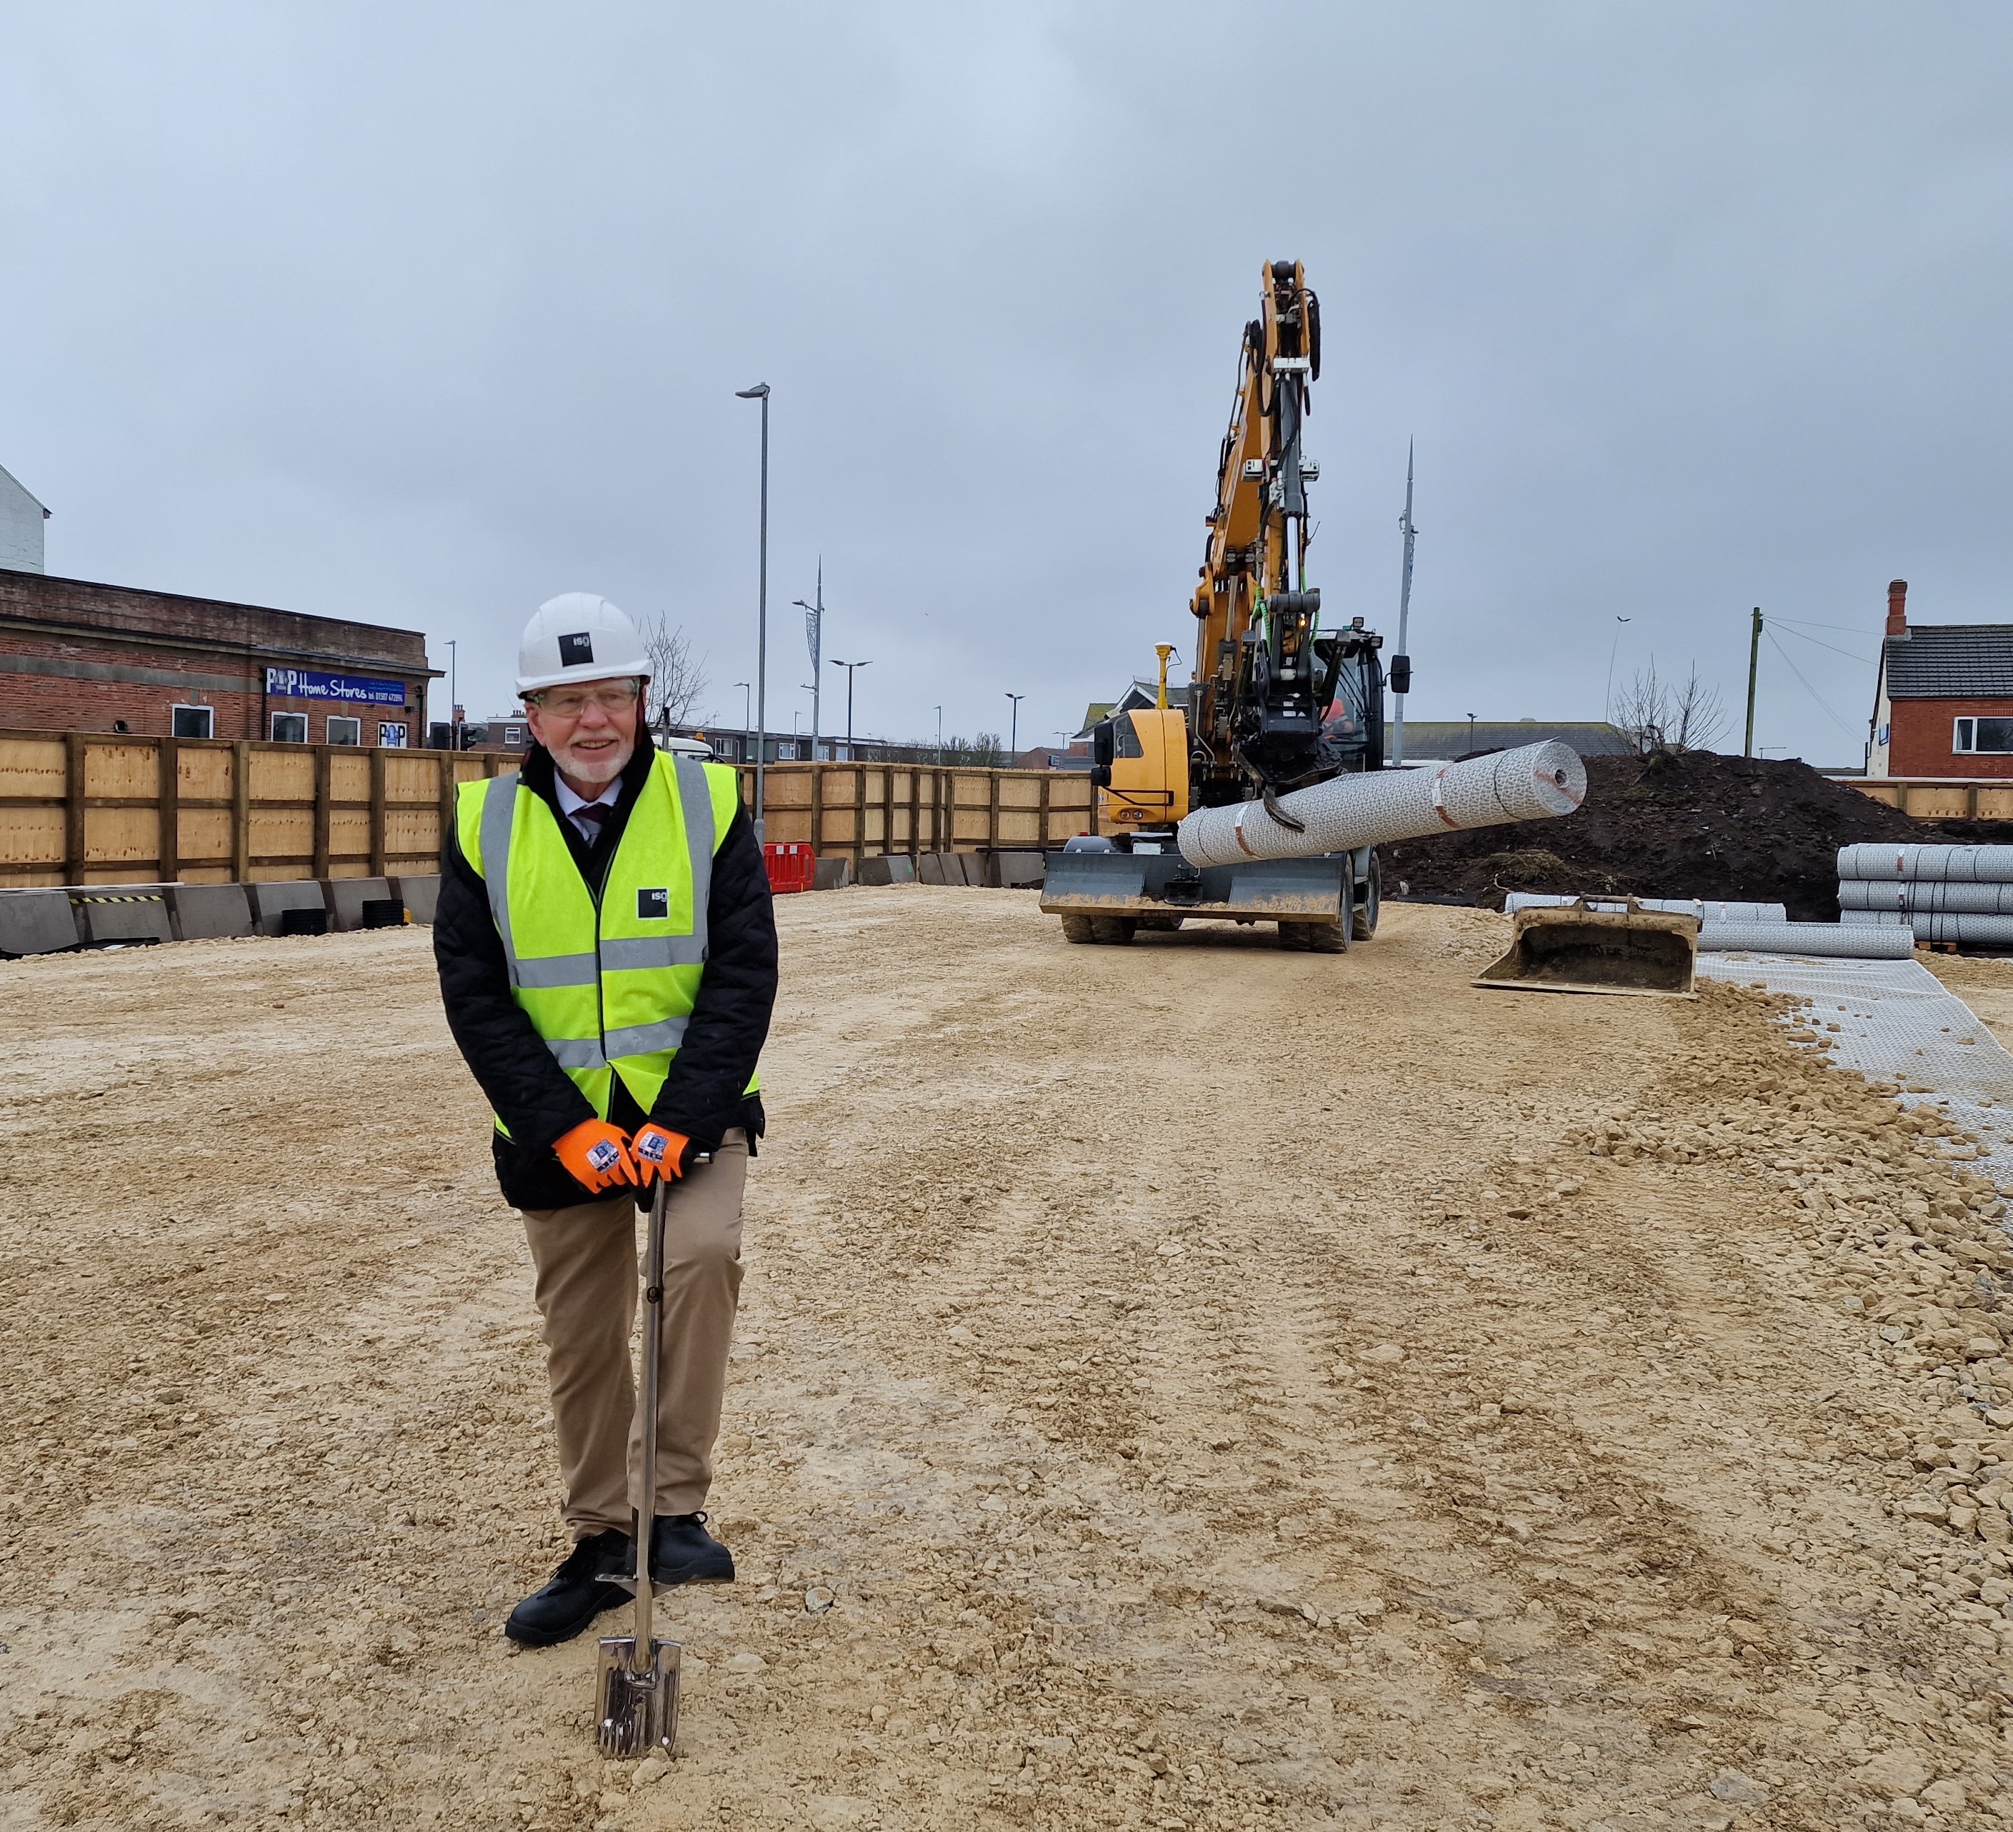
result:
[(1586, 803), (1556, 821), (1435, 833), (1379, 852), (1393, 894), (1494, 908), (1512, 890), (1735, 898), (1788, 904), (1796, 922), (1836, 922), (1840, 846), (1953, 837), (1808, 763), (1687, 751), (1588, 757)]

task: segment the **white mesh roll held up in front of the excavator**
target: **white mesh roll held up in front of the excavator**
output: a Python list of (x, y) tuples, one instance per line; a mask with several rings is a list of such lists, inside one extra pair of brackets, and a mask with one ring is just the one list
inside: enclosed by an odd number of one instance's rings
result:
[(1586, 765), (1570, 745), (1548, 739), (1437, 769), (1341, 775), (1276, 797), (1274, 805), (1298, 821), (1300, 831), (1266, 813), (1262, 801), (1198, 807), (1176, 839), (1192, 866), (1304, 860), (1461, 827), (1554, 819), (1584, 799)]

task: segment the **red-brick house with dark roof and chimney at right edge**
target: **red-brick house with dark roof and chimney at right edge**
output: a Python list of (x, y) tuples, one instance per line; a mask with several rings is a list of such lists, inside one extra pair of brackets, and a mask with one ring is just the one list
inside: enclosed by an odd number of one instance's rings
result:
[(1866, 775), (2013, 777), (2013, 624), (1910, 628), (1888, 586)]

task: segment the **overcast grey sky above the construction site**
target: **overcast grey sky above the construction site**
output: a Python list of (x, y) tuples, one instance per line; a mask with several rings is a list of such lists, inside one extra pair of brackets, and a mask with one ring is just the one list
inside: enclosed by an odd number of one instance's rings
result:
[(1864, 660), (1763, 644), (1757, 741), (1856, 763), (1888, 578), (2013, 618), (2003, 4), (0, 10), (50, 572), (457, 636), (471, 715), (598, 590), (739, 717), (767, 380), (771, 727), (823, 554), (860, 731), (1073, 729), (1188, 660), (1270, 258), (1329, 614), (1395, 634), (1419, 441), (1415, 717), (1600, 717), (1618, 638), (1737, 749), (1761, 604)]

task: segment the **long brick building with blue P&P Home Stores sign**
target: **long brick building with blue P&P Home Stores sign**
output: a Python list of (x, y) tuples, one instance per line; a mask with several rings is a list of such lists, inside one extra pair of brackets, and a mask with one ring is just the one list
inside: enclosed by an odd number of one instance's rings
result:
[(0, 570), (0, 727), (407, 747), (437, 676), (419, 630)]

